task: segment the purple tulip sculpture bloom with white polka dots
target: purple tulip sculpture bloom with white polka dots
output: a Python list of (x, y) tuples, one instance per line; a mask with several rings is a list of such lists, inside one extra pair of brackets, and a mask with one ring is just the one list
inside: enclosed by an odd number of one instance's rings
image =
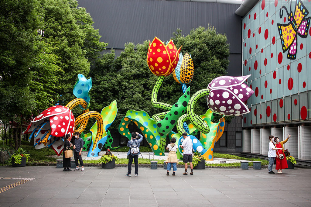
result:
[(216, 114), (242, 115), (249, 113), (244, 102), (254, 91), (243, 82), (247, 76), (220, 76), (212, 80), (208, 87), (207, 105)]

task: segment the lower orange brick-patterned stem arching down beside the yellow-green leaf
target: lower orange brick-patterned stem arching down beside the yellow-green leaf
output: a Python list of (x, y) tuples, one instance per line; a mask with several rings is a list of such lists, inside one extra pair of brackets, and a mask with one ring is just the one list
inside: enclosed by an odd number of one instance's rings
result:
[[(104, 133), (104, 121), (103, 118), (101, 117), (100, 113), (98, 113), (97, 111), (89, 111), (86, 112), (84, 114), (81, 114), (80, 116), (78, 116), (78, 118), (76, 119), (76, 124), (80, 124), (82, 123), (84, 120), (88, 120), (90, 118), (95, 118), (97, 121), (97, 133), (96, 133), (96, 138), (93, 144), (93, 149), (94, 150), (97, 146), (97, 142), (98, 140), (100, 140), (103, 137), (103, 133)], [(76, 130), (77, 131), (77, 130)]]

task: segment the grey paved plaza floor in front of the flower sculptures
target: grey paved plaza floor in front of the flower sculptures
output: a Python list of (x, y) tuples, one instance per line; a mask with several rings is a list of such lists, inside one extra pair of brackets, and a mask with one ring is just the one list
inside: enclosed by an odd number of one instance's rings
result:
[(311, 169), (272, 175), (267, 169), (207, 168), (185, 176), (178, 168), (176, 176), (166, 176), (163, 168), (140, 167), (138, 177), (126, 173), (125, 167), (66, 172), (47, 166), (1, 166), (0, 206), (311, 206)]

